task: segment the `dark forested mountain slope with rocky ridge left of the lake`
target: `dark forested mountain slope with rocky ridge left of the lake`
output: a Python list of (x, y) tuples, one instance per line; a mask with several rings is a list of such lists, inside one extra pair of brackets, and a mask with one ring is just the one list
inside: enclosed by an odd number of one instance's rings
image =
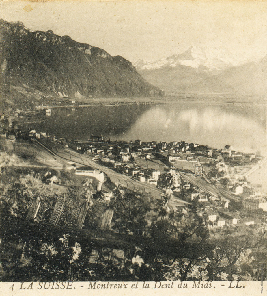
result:
[(0, 20), (1, 89), (33, 88), (57, 96), (148, 96), (159, 90), (121, 56), (51, 30)]

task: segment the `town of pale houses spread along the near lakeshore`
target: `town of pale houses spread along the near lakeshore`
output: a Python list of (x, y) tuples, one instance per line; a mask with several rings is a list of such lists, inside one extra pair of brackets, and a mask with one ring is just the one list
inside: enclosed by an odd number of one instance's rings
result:
[[(46, 111), (49, 113), (49, 109)], [(95, 179), (96, 190), (104, 188), (106, 194), (114, 188), (105, 185), (109, 170), (122, 180), (130, 180), (125, 187), (143, 187), (156, 197), (160, 192), (170, 192), (174, 206), (194, 206), (207, 217), (210, 228), (248, 226), (265, 222), (267, 217), (267, 197), (260, 193), (260, 186), (246, 180), (266, 161), (260, 151), (246, 154), (234, 151), (229, 144), (216, 149), (185, 141), (106, 141), (101, 134), (92, 134), (88, 141), (57, 139), (48, 132), (21, 130), (10, 122), (7, 125), (8, 121), (6, 128), (1, 125), (2, 138), (37, 142), (70, 161), (80, 157), (80, 162), (74, 161), (69, 169)], [(72, 153), (76, 156), (71, 157)], [(91, 160), (90, 165), (86, 159)], [(120, 178), (116, 178), (113, 183), (118, 185)]]

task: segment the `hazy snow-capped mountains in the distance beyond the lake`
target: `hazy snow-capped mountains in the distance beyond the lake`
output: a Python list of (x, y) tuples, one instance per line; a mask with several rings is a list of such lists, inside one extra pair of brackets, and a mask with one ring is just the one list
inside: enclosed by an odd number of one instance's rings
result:
[(222, 49), (190, 47), (134, 66), (150, 83), (168, 92), (266, 94), (267, 55), (250, 62)]

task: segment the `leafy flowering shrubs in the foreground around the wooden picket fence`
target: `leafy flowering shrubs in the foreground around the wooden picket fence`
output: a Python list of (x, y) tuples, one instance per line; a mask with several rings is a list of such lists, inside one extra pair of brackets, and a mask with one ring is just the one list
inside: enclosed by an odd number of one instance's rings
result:
[[(90, 242), (79, 242), (76, 237), (65, 233), (56, 240), (50, 239), (48, 252), (43, 257), (38, 256), (41, 239), (27, 242), (18, 264), (12, 263), (8, 245), (15, 246), (22, 239), (16, 234), (16, 223), (12, 224), (12, 221), (18, 222), (24, 218), (33, 198), (37, 196), (42, 202), (38, 221), (47, 221), (45, 217), (49, 216), (48, 212), (53, 209), (57, 199), (51, 186), (42, 180), (42, 176), (34, 173), (9, 179), (7, 184), (1, 180), (1, 215), (2, 221), (5, 221), (1, 227), (8, 225), (12, 233), (2, 242), (4, 276), (1, 276), (4, 280), (31, 280), (33, 273), (36, 279), (47, 281), (233, 280), (261, 279), (262, 275), (266, 278), (266, 269), (259, 269), (258, 264), (259, 254), (266, 254), (264, 225), (260, 228), (223, 227), (219, 233), (223, 243), (218, 243), (203, 258), (180, 258), (175, 252), (173, 255), (161, 255), (162, 252), (158, 250), (166, 248), (164, 242), (169, 239), (176, 239), (181, 245), (188, 240), (209, 241), (211, 233), (205, 217), (198, 214), (194, 207), (176, 207), (170, 186), (164, 189), (160, 199), (121, 186), (109, 194), (103, 191), (93, 194), (90, 179), (85, 180), (80, 191), (66, 195), (60, 223), (74, 227), (81, 204), (88, 202), (85, 228), (97, 229), (103, 213), (112, 208), (112, 231), (135, 235), (140, 240), (146, 237), (146, 243), (142, 247), (129, 246), (123, 250), (102, 248), (97, 261), (89, 263), (91, 251), (96, 246)], [(266, 259), (261, 260), (264, 262)]]

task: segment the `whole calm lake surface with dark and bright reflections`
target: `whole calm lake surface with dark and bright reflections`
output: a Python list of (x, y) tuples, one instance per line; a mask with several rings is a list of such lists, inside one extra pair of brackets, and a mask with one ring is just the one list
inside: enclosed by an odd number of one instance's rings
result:
[(36, 128), (58, 137), (188, 141), (242, 152), (266, 153), (266, 106), (244, 103), (179, 101), (159, 105), (55, 108)]

